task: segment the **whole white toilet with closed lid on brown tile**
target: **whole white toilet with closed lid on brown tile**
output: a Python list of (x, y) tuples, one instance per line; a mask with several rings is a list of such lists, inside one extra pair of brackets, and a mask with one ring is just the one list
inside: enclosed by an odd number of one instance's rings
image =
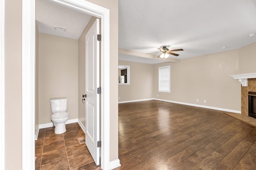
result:
[(61, 134), (66, 132), (65, 122), (68, 120), (69, 113), (67, 110), (67, 98), (50, 99), (52, 109), (52, 121), (55, 125), (54, 133)]

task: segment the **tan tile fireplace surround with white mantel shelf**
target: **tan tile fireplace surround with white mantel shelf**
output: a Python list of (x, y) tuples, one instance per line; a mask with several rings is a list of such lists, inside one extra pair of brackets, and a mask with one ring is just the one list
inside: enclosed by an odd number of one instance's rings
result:
[(256, 92), (256, 73), (232, 75), (241, 85), (241, 114), (248, 116), (248, 92)]

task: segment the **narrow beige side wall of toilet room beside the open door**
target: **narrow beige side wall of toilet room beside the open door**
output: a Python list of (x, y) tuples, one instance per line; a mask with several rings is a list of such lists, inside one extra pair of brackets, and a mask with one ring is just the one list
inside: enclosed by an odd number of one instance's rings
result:
[(78, 119), (85, 127), (85, 104), (82, 103), (82, 95), (85, 94), (85, 35), (96, 20), (92, 17), (84, 28), (83, 33), (78, 39)]

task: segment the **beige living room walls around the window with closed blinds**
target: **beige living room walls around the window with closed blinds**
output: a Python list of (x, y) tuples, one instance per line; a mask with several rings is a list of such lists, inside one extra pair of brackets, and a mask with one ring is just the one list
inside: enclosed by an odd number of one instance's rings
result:
[[(118, 86), (118, 96), (121, 98), (119, 102), (159, 98), (240, 111), (240, 83), (230, 77), (239, 73), (240, 50), (183, 59), (180, 63), (166, 62), (151, 65), (119, 61), (120, 65), (131, 66), (131, 84)], [(170, 93), (158, 92), (158, 67), (166, 65), (171, 67)], [(144, 84), (144, 81), (140, 80), (142, 75), (147, 75), (146, 80), (153, 79)], [(196, 102), (196, 99), (199, 102)]]

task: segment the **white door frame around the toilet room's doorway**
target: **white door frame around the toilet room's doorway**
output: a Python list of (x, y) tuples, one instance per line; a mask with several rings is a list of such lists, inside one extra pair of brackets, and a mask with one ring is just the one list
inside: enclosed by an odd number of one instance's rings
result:
[[(100, 68), (102, 88), (101, 168), (109, 169), (110, 156), (110, 11), (85, 0), (50, 0), (100, 18)], [(35, 0), (22, 1), (22, 169), (35, 168)]]

